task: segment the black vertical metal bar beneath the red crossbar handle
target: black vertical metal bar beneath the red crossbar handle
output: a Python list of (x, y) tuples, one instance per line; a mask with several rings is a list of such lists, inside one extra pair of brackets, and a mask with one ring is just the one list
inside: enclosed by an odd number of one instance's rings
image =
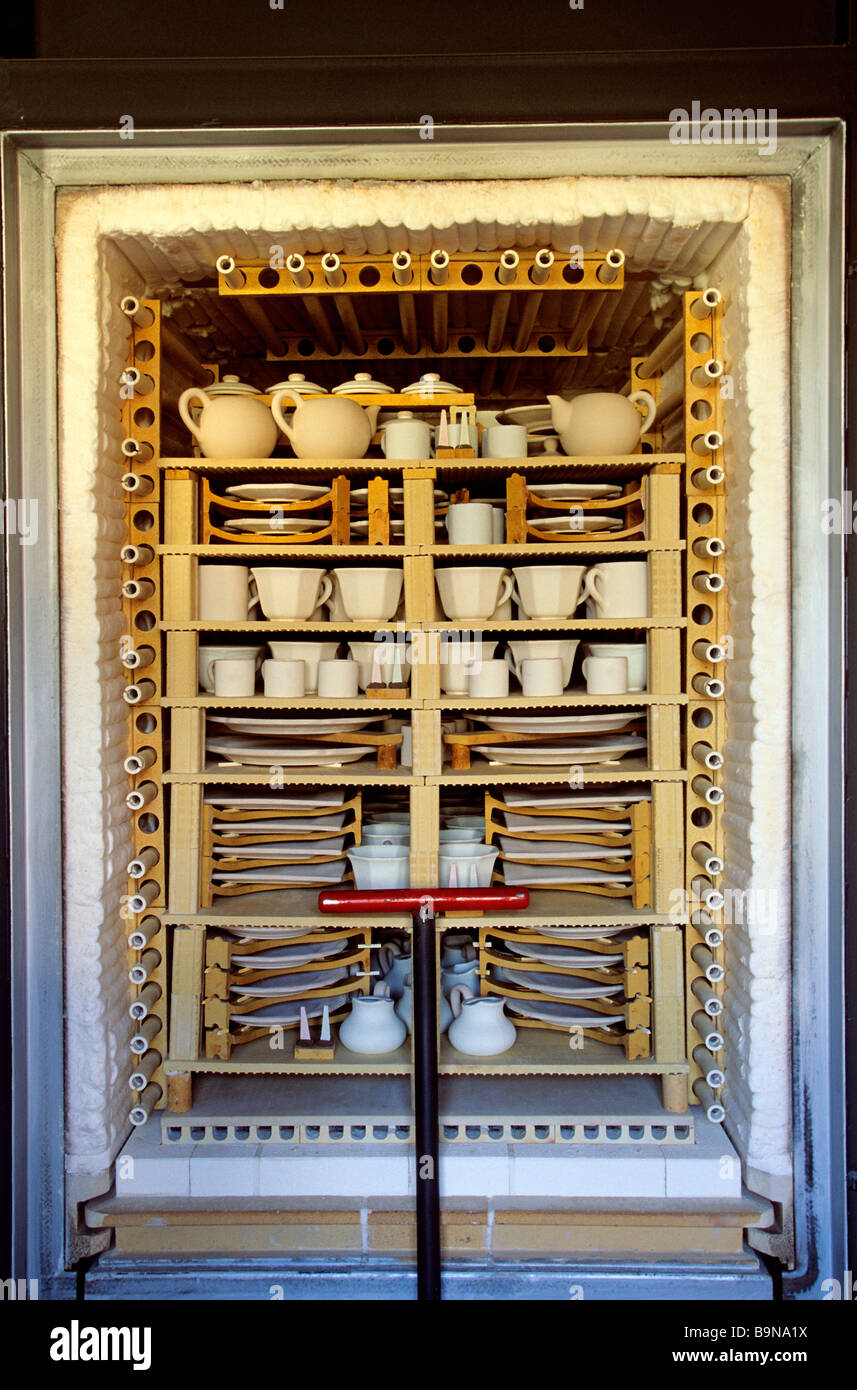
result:
[(417, 1298), (440, 1301), (438, 1170), (438, 958), (435, 908), (414, 917), (414, 1120), (417, 1138)]

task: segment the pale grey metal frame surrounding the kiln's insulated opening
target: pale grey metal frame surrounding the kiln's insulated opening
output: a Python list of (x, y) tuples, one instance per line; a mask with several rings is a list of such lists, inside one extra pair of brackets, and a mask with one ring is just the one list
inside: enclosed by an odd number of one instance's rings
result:
[[(169, 167), (160, 163), (169, 147)], [(443, 129), (443, 161), (433, 177), (533, 177), (539, 152), (546, 174), (599, 174), (610, 150), (614, 174), (758, 177), (751, 149), (676, 147), (667, 126), (493, 125)], [(63, 937), (60, 820), (60, 670), (57, 481), (44, 460), (56, 455), (56, 396), (44, 364), (56, 360), (54, 195), (57, 188), (110, 182), (183, 182), (200, 164), (210, 181), (233, 177), (324, 175), (414, 178), (429, 170), (432, 149), (413, 128), (138, 131), (135, 149), (118, 150), (104, 132), (26, 132), (3, 136), (4, 346), (7, 498), (39, 500), (42, 543), (8, 545), (10, 801), (13, 960), (13, 1159), (15, 1247), (13, 1273), (39, 1277), (42, 1297), (74, 1297), (64, 1270), (63, 1172)], [(550, 167), (546, 167), (549, 164)], [(417, 167), (419, 165), (419, 167)], [(818, 1297), (826, 1277), (842, 1277), (844, 1254), (843, 1076), (843, 557), (844, 538), (828, 537), (819, 499), (843, 488), (843, 178), (844, 126), (838, 120), (781, 121), (767, 177), (793, 189), (793, 639), (813, 660), (794, 663), (793, 784), (793, 1031), (794, 1168), (799, 1268), (785, 1276), (786, 1297)], [(432, 177), (429, 174), (429, 177)], [(50, 375), (50, 374), (47, 374)], [(825, 448), (819, 448), (821, 442)], [(38, 731), (38, 737), (32, 737)], [(282, 1266), (279, 1266), (282, 1270)], [(526, 1266), (531, 1297), (564, 1298), (568, 1279), (592, 1283), (596, 1297), (686, 1297), (688, 1270), (642, 1265)], [(517, 1266), (515, 1277), (524, 1272)], [(196, 1297), (222, 1294), (235, 1266), (179, 1273)], [(267, 1273), (240, 1272), (250, 1291)], [(282, 1277), (282, 1275), (281, 1275)], [(376, 1279), (378, 1276), (368, 1276)], [(386, 1276), (404, 1277), (410, 1275)], [(458, 1294), (492, 1280), (504, 1297), (506, 1276), (451, 1273)], [(765, 1280), (699, 1272), (699, 1297), (761, 1297)], [(360, 1279), (349, 1290), (358, 1297)], [(97, 1287), (97, 1286), (96, 1286)], [(93, 1287), (93, 1293), (96, 1293)], [(140, 1270), (104, 1297), (157, 1297), (168, 1287)], [(336, 1279), (315, 1297), (336, 1297)], [(368, 1287), (368, 1282), (367, 1282)], [(596, 1293), (597, 1289), (597, 1293)], [(639, 1290), (639, 1291), (638, 1291)], [(96, 1293), (96, 1297), (99, 1295)], [(450, 1290), (451, 1293), (451, 1290)], [(92, 1294), (89, 1294), (92, 1295)], [(364, 1294), (365, 1295), (365, 1294)]]

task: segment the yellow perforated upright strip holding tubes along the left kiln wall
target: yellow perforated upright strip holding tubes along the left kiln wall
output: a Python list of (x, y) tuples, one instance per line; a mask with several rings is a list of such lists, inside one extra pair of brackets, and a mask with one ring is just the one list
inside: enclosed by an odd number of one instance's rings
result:
[[(122, 584), (129, 581), (142, 587), (143, 592), (136, 595), (122, 594), (122, 612), (125, 614), (125, 632), (131, 646), (135, 649), (151, 646), (154, 660), (139, 671), (129, 671), (129, 684), (138, 681), (151, 681), (154, 694), (150, 699), (139, 705), (129, 706), (128, 710), (128, 755), (142, 755), (151, 762), (138, 773), (129, 774), (132, 790), (142, 784), (151, 784), (156, 788), (154, 796), (147, 801), (140, 810), (132, 810), (133, 817), (133, 848), (135, 859), (147, 858), (147, 852), (157, 853), (157, 862), (151, 872), (142, 880), (128, 880), (128, 894), (125, 903), (129, 906), (133, 895), (142, 885), (154, 881), (158, 885), (147, 908), (139, 913), (131, 913), (135, 927), (143, 922), (154, 919), (158, 926), (151, 931), (143, 949), (128, 947), (128, 967), (147, 965), (157, 952), (158, 959), (142, 986), (131, 986), (132, 1001), (150, 984), (158, 987), (160, 997), (154, 1009), (147, 1016), (161, 1020), (157, 1034), (150, 1038), (150, 1052), (160, 1054), (161, 1062), (149, 1076), (149, 1084), (138, 1095), (138, 1104), (143, 1108), (161, 1109), (167, 1104), (167, 1083), (163, 1070), (163, 1059), (167, 1055), (167, 931), (161, 924), (160, 910), (165, 903), (165, 849), (164, 849), (164, 731), (163, 710), (160, 696), (163, 694), (163, 652), (160, 638), (161, 621), (161, 584), (158, 562), (158, 539), (161, 521), (161, 489), (158, 477), (158, 461), (161, 452), (161, 303), (157, 299), (124, 300), (124, 311), (128, 313), (131, 327), (131, 341), (128, 352), (128, 368), (121, 382), (122, 427), (125, 435), (125, 457), (122, 473), (129, 482), (138, 480), (136, 488), (125, 488), (128, 499), (126, 507), (126, 545), (149, 546), (154, 553), (149, 563), (122, 566)], [(133, 448), (136, 446), (136, 449)], [(153, 585), (153, 592), (146, 592)], [(153, 756), (154, 755), (154, 756)], [(128, 919), (126, 919), (128, 920)], [(146, 1054), (147, 1056), (149, 1054)], [(146, 1072), (144, 1058), (139, 1059)]]

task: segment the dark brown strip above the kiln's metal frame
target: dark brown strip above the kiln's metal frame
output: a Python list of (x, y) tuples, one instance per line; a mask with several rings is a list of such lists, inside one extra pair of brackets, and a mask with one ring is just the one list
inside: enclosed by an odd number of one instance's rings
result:
[[(8, 0), (0, 18), (0, 129), (665, 121), (674, 107), (857, 114), (856, 0)], [(857, 220), (849, 160), (850, 228)], [(849, 240), (853, 247), (853, 240)], [(850, 417), (854, 259), (849, 253)], [(850, 448), (846, 478), (857, 496)], [(849, 566), (849, 649), (857, 651)], [(3, 595), (0, 592), (0, 603)], [(0, 691), (3, 680), (0, 648)], [(857, 883), (857, 719), (847, 709), (849, 878)], [(0, 749), (1, 752), (1, 749)], [(3, 808), (0, 806), (0, 810)], [(0, 821), (1, 821), (0, 816)], [(6, 887), (0, 823), (0, 894)], [(1, 901), (0, 901), (1, 909)], [(857, 1197), (857, 910), (849, 901), (850, 1197)], [(8, 963), (8, 944), (0, 973)], [(0, 990), (0, 1011), (8, 1009)], [(8, 1037), (8, 1026), (3, 1029)], [(1, 1068), (7, 1087), (8, 1068)], [(8, 1113), (0, 1097), (0, 1106)], [(3, 1127), (3, 1144), (8, 1129)], [(8, 1150), (6, 1154), (8, 1158)], [(6, 1194), (0, 1207), (8, 1211)], [(857, 1243), (857, 1220), (851, 1220)], [(0, 1261), (0, 1265), (3, 1261)], [(850, 1252), (857, 1268), (857, 1245)], [(0, 1272), (3, 1277), (6, 1270)]]

